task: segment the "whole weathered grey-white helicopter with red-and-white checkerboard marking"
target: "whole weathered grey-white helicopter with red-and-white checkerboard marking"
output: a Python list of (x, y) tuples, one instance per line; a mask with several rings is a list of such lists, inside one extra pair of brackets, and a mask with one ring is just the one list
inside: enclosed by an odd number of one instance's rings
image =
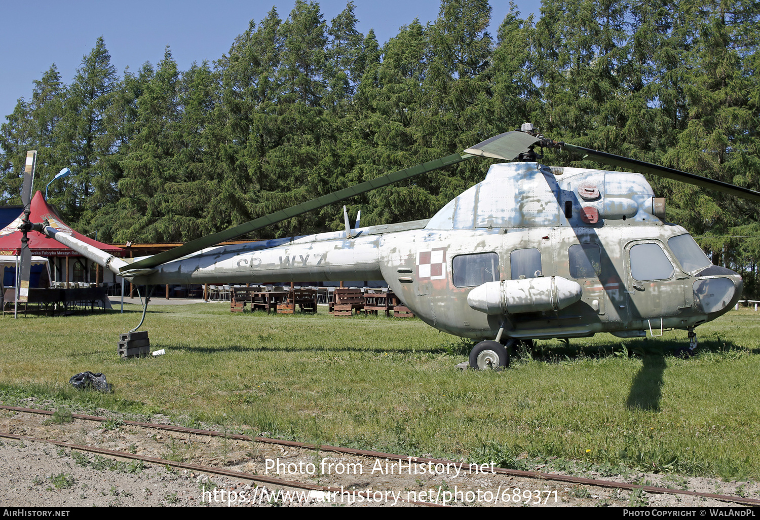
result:
[[(459, 154), (149, 257), (116, 258), (49, 223), (26, 220), (20, 229), (45, 233), (134, 284), (383, 279), (423, 322), (479, 341), (469, 356), (476, 369), (507, 367), (518, 341), (600, 332), (636, 338), (647, 330), (683, 329), (689, 347), (679, 352), (691, 354), (695, 327), (739, 300), (742, 277), (713, 265), (686, 229), (664, 220), (665, 200), (641, 173), (545, 166), (536, 147), (760, 200), (760, 192), (740, 186), (553, 141), (526, 123)], [(473, 157), (508, 162), (492, 164), (482, 182), (428, 220), (352, 228), (344, 207), (345, 230), (216, 246)]]

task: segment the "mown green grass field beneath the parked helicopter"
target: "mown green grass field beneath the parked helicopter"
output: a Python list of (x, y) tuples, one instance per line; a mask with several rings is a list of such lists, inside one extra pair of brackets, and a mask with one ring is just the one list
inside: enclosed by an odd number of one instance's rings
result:
[[(119, 314), (2, 319), (0, 399), (169, 414), (179, 422), (306, 442), (430, 454), (511, 468), (760, 477), (760, 314), (697, 329), (698, 355), (662, 338), (540, 341), (502, 373), (461, 372), (467, 345), (417, 319), (232, 314), (154, 306), (145, 329), (166, 355), (121, 360)], [(114, 392), (78, 392), (103, 372)]]

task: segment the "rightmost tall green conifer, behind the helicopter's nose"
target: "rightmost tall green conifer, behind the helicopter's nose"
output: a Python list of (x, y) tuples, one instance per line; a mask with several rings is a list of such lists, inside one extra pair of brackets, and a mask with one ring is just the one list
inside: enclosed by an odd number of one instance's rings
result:
[[(748, 93), (758, 81), (750, 71), (760, 41), (760, 7), (716, 0), (686, 14), (693, 31), (683, 87), (688, 116), (664, 159), (680, 170), (758, 189), (758, 105)], [(739, 241), (727, 236), (746, 229), (749, 218), (756, 222), (755, 205), (692, 186), (675, 195), (673, 214), (679, 221), (697, 234), (715, 236), (700, 241), (713, 262), (741, 268)]]

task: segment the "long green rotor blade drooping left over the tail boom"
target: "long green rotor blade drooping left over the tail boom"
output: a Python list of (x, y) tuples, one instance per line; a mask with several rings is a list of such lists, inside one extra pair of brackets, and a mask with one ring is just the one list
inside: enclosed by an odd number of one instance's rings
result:
[(355, 195), (361, 195), (362, 193), (370, 192), (373, 189), (382, 188), (410, 177), (420, 175), (420, 173), (432, 172), (434, 170), (440, 170), (445, 166), (451, 164), (461, 163), (463, 160), (467, 160), (473, 157), (470, 154), (452, 154), (440, 159), (430, 160), (427, 163), (418, 164), (412, 166), (406, 170), (400, 170), (394, 173), (388, 173), (387, 175), (380, 176), (376, 179), (372, 179), (360, 184), (350, 186), (348, 188), (340, 189), (337, 192), (329, 193), (328, 195), (322, 195), (321, 197), (312, 198), (310, 201), (302, 202), (299, 205), (292, 206), (280, 211), (276, 211), (272, 214), (259, 217), (255, 220), (250, 220), (245, 224), (239, 224), (235, 227), (230, 227), (229, 230), (220, 231), (213, 235), (207, 235), (199, 239), (191, 240), (190, 242), (183, 244), (182, 246), (169, 251), (158, 253), (150, 258), (144, 258), (134, 264), (126, 265), (121, 271), (131, 271), (132, 269), (145, 269), (154, 268), (157, 265), (171, 262), (177, 258), (190, 255), (201, 249), (207, 247), (216, 246), (218, 243), (226, 240), (236, 239), (238, 236), (245, 235), (245, 233), (251, 233), (255, 230), (260, 230), (262, 227), (267, 227), (270, 224), (277, 224), (289, 218), (297, 217), (300, 214), (304, 214), (307, 211), (312, 211), (318, 208), (324, 208), (325, 206), (334, 204), (335, 202), (343, 201), (347, 198), (351, 198)]

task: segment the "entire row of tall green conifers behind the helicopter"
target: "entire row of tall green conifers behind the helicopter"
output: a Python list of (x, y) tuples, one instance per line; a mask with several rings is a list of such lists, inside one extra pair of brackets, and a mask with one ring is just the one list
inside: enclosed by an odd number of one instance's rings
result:
[[(21, 204), (26, 151), (49, 202), (105, 242), (180, 242), (463, 150), (533, 122), (547, 136), (760, 189), (760, 4), (754, 0), (544, 0), (541, 16), (442, 0), (381, 43), (353, 3), (274, 8), (214, 62), (170, 49), (137, 71), (100, 38), (71, 84), (52, 65), (0, 135), (0, 203)], [(496, 34), (491, 17), (502, 18)], [(547, 153), (543, 163), (600, 167)], [(350, 201), (382, 224), (431, 217), (480, 182), (466, 161)], [(668, 220), (760, 292), (758, 208), (649, 176)], [(251, 238), (343, 227), (323, 208)]]

